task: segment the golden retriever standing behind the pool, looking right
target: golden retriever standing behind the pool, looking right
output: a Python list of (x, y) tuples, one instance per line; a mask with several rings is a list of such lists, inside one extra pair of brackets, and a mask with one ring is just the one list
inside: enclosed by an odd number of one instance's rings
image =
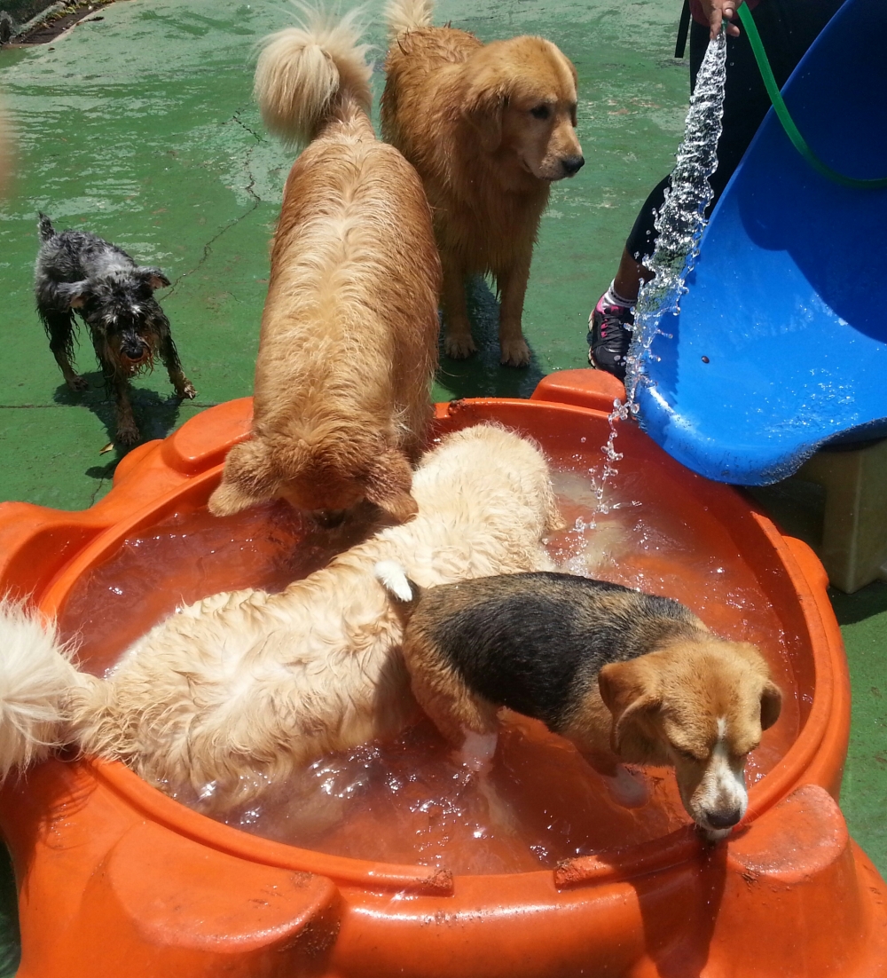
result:
[(419, 170), (443, 262), (444, 349), (476, 349), (466, 276), (492, 273), (502, 362), (524, 366), (521, 317), (539, 220), (555, 180), (583, 165), (576, 69), (550, 41), (482, 44), (431, 26), (429, 0), (392, 0), (382, 134)]

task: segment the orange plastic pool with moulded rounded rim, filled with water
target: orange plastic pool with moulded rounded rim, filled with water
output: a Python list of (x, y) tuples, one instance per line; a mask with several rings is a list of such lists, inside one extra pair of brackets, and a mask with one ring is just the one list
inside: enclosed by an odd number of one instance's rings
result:
[[(581, 444), (594, 466), (618, 394), (610, 381), (555, 375), (531, 401), (439, 406), (438, 423), (504, 422), (554, 454)], [(64, 621), (67, 601), (124, 540), (175, 514), (200, 516), (249, 418), (250, 402), (235, 401), (136, 449), (89, 511), (0, 506), (0, 587)], [(121, 765), (51, 760), (0, 792), (19, 884), (20, 975), (887, 975), (887, 888), (835, 801), (850, 690), (819, 561), (633, 426), (621, 428), (619, 449), (662, 487), (676, 519), (696, 520), (713, 548), (741, 558), (787, 637), (791, 737), (752, 785), (749, 813), (726, 844), (706, 848), (681, 826), (553, 867), (454, 873), (445, 857), (393, 865), (260, 838), (185, 808)], [(217, 568), (201, 573), (203, 587), (230, 586)], [(129, 641), (127, 628), (156, 613), (131, 610), (128, 624), (106, 629), (107, 648), (85, 646), (90, 668), (101, 670), (108, 649)]]

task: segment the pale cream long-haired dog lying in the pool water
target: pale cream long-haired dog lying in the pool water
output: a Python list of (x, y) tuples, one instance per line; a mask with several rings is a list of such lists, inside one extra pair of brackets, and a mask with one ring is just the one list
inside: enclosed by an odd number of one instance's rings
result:
[(425, 586), (551, 567), (560, 525), (542, 453), (475, 425), (424, 456), (419, 514), (277, 595), (183, 608), (107, 679), (80, 672), (52, 628), (0, 605), (0, 778), (67, 743), (124, 761), (209, 811), (256, 797), (321, 755), (395, 733), (416, 709), (401, 618), (377, 581), (396, 561)]

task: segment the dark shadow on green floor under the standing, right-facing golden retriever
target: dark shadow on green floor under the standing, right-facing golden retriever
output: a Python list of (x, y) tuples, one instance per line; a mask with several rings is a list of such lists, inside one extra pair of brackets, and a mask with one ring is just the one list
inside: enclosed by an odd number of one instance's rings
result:
[[(477, 352), (467, 360), (453, 360), (440, 346), (437, 383), (454, 399), (461, 397), (529, 397), (545, 376), (530, 350), (528, 367), (503, 367), (499, 362), (499, 302), (487, 282), (477, 277), (467, 283), (468, 318)], [(442, 335), (442, 333), (441, 333)]]

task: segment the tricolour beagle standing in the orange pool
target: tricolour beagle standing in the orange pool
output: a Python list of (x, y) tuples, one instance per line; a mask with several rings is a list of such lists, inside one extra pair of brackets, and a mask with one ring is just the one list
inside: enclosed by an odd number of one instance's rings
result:
[(781, 703), (754, 646), (717, 638), (678, 601), (567, 574), (409, 590), (412, 689), (451, 741), (495, 731), (507, 706), (608, 777), (619, 762), (674, 767), (713, 837), (744, 814), (745, 756)]

